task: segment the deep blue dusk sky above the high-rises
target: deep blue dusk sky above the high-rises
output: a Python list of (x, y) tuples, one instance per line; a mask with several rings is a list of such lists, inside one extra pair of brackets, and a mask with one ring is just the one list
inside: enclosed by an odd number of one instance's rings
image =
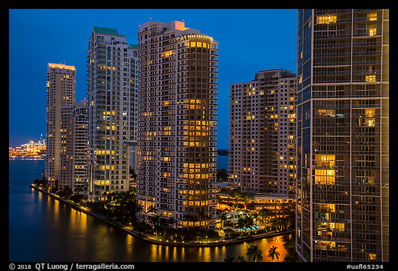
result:
[(76, 99), (86, 95), (86, 50), (93, 26), (116, 28), (138, 43), (146, 21), (182, 21), (219, 41), (218, 148), (228, 148), (229, 84), (258, 70), (296, 72), (296, 10), (10, 10), (10, 146), (46, 134), (47, 63), (77, 70)]

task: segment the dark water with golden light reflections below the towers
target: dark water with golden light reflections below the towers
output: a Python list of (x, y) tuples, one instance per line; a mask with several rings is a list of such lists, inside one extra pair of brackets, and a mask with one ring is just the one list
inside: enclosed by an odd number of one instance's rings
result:
[[(77, 212), (28, 185), (41, 178), (44, 160), (10, 160), (10, 261), (147, 262), (224, 261), (245, 255), (247, 244), (213, 248), (177, 248), (153, 245), (132, 237), (91, 216)], [(263, 251), (276, 245), (285, 257), (281, 237), (253, 241)]]

